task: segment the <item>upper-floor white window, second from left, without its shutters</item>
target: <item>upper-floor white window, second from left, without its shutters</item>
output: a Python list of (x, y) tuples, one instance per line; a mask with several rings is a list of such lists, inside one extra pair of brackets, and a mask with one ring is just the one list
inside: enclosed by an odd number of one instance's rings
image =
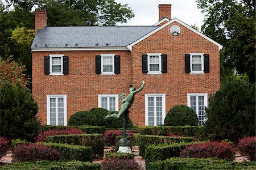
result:
[(114, 56), (115, 54), (101, 54), (101, 74), (115, 74)]

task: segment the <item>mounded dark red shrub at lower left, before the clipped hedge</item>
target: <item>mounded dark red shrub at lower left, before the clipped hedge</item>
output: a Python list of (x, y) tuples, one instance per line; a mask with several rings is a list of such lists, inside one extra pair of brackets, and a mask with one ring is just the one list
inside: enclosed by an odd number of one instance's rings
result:
[(50, 146), (22, 143), (13, 151), (14, 162), (35, 162), (38, 160), (59, 160), (60, 153)]

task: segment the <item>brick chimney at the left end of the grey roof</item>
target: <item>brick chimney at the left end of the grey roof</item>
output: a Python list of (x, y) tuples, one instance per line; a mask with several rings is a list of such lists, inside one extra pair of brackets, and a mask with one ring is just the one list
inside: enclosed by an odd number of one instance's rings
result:
[(47, 25), (47, 13), (45, 10), (35, 10), (35, 33), (38, 29), (44, 29)]

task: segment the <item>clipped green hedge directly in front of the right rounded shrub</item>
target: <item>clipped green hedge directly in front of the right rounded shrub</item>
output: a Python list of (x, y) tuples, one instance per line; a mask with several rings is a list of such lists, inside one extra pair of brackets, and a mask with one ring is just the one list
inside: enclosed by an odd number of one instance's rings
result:
[(139, 128), (142, 135), (160, 135), (176, 134), (184, 137), (203, 138), (203, 126), (144, 126)]

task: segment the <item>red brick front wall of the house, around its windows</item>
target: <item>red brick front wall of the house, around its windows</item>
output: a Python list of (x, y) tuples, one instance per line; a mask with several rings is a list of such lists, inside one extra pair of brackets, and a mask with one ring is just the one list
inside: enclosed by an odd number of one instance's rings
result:
[[(172, 23), (175, 24), (175, 23)], [(130, 109), (134, 125), (145, 125), (144, 94), (166, 94), (166, 113), (177, 104), (187, 105), (187, 93), (213, 94), (220, 88), (220, 63), (218, 46), (191, 30), (181, 27), (179, 36), (172, 36), (171, 25), (154, 33), (133, 46), (130, 51), (94, 52), (33, 52), (32, 94), (39, 105), (38, 117), (46, 124), (46, 95), (67, 95), (67, 117), (77, 111), (98, 107), (98, 94), (129, 93), (129, 85), (146, 85), (135, 95)], [(178, 23), (176, 23), (178, 24)], [(179, 24), (178, 24), (179, 25)], [(121, 74), (95, 73), (95, 56), (114, 53), (121, 56)], [(142, 54), (167, 54), (167, 73), (149, 75), (142, 73)], [(185, 73), (184, 54), (205, 53), (210, 56), (210, 73)], [(50, 76), (44, 74), (44, 56), (64, 54), (69, 56), (69, 74)], [(119, 102), (120, 109), (120, 102)]]

